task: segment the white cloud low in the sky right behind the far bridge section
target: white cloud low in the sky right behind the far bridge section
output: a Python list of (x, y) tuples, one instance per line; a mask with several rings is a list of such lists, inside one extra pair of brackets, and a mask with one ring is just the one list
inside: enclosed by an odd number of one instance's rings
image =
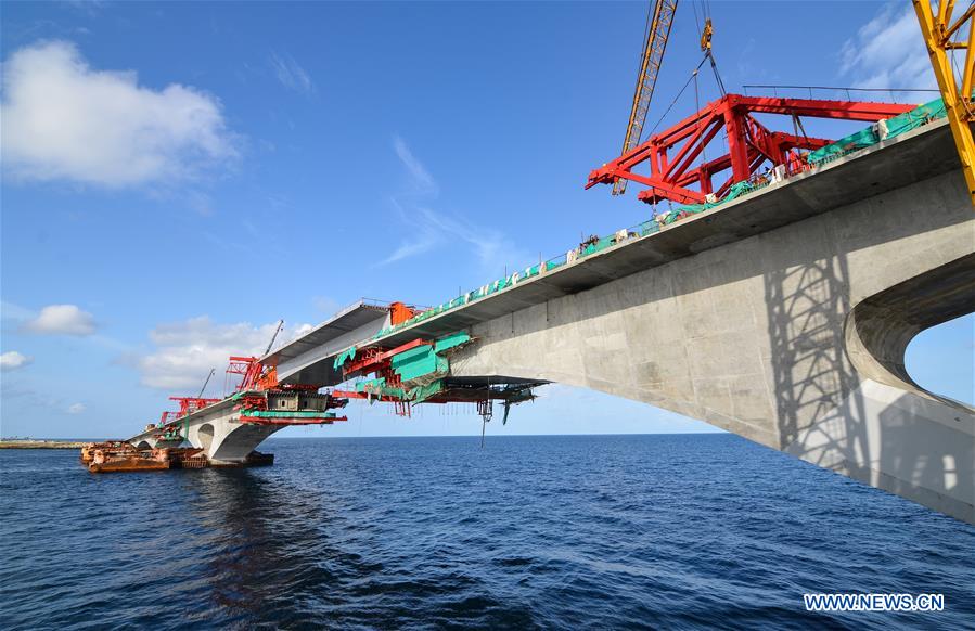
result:
[[(156, 349), (134, 358), (132, 363), (145, 386), (174, 394), (194, 388), (198, 391), (209, 370), (216, 368), (221, 372), (230, 356), (262, 353), (277, 326), (277, 322), (260, 326), (248, 322), (217, 324), (207, 316), (159, 324), (149, 334)], [(274, 346), (280, 347), (311, 327), (310, 324), (285, 326)], [(211, 379), (210, 386), (219, 386), (218, 381)]]

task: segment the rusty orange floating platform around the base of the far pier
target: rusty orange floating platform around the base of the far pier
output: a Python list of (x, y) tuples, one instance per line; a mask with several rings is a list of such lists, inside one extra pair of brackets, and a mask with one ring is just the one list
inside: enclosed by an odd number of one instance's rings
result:
[(241, 463), (213, 462), (202, 449), (174, 447), (137, 450), (128, 442), (89, 443), (81, 448), (81, 464), (91, 473), (166, 471), (170, 468), (236, 468), (274, 464), (273, 453), (252, 451)]

